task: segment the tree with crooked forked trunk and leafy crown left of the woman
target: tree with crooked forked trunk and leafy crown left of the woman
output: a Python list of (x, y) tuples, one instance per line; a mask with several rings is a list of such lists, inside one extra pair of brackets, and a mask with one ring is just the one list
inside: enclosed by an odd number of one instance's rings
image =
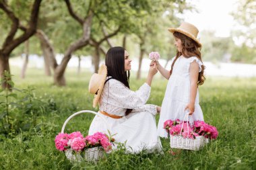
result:
[[(106, 42), (109, 45), (110, 42), (108, 38), (115, 36), (118, 32), (128, 32), (128, 30), (133, 28), (134, 20), (131, 20), (130, 17), (131, 15), (134, 15), (135, 17), (137, 11), (143, 9), (145, 7), (145, 4), (147, 4), (147, 1), (134, 0), (127, 1), (127, 3), (114, 0), (97, 0), (89, 2), (83, 1), (79, 3), (73, 1), (71, 4), (70, 1), (65, 0), (65, 5), (69, 11), (69, 15), (79, 24), (79, 26), (76, 26), (75, 30), (73, 29), (73, 26), (69, 24), (63, 24), (65, 26), (65, 29), (69, 29), (69, 32), (71, 32), (70, 34), (67, 34), (67, 32), (65, 32), (65, 37), (67, 37), (67, 35), (69, 37), (75, 35), (73, 36), (73, 38), (77, 39), (77, 34), (81, 32), (81, 29), (77, 28), (81, 28), (81, 26), (83, 28), (83, 32), (82, 36), (80, 36), (78, 40), (73, 40), (73, 42), (69, 44), (68, 48), (65, 48), (64, 45), (67, 43), (67, 41), (61, 42), (60, 45), (57, 45), (59, 51), (64, 49), (67, 50), (64, 53), (64, 57), (60, 65), (57, 65), (55, 57), (51, 57), (51, 63), (53, 63), (52, 66), (55, 72), (55, 84), (65, 85), (64, 73), (67, 67), (67, 63), (71, 58), (71, 54), (73, 54), (76, 50), (88, 46), (88, 44), (94, 47), (94, 70), (97, 71), (100, 52), (102, 52), (103, 54), (105, 53), (105, 50), (103, 50), (102, 48), (103, 43)], [(59, 3), (59, 5), (61, 5), (61, 3)], [(84, 13), (87, 13), (86, 17), (84, 17)], [(56, 24), (53, 25), (56, 26)], [(110, 32), (110, 34), (107, 34), (107, 32)], [(56, 34), (54, 36), (57, 37)], [(44, 38), (42, 38), (42, 40), (44, 40), (45, 44), (48, 44), (48, 47), (50, 47), (51, 43), (49, 43), (49, 40), (47, 41), (46, 34), (44, 34), (43, 37)], [(59, 40), (63, 40), (62, 37), (57, 38), (59, 38)], [(70, 38), (67, 39), (70, 40)], [(53, 44), (56, 45), (57, 41), (54, 41)], [(49, 49), (52, 49), (49, 50), (49, 52), (54, 52), (53, 46)], [(55, 56), (55, 54), (53, 53), (50, 56)]]

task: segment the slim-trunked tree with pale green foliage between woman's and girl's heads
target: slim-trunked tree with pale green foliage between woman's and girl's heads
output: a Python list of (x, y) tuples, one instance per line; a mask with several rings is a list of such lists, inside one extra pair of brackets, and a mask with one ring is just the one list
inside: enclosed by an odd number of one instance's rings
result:
[[(191, 7), (185, 1), (160, 1), (152, 3), (150, 11), (145, 11), (145, 15), (139, 19), (137, 30), (134, 34), (138, 38), (139, 43), (139, 67), (137, 71), (137, 79), (141, 77), (141, 65), (143, 56), (150, 51), (159, 51), (161, 56), (170, 60), (174, 56), (175, 51), (170, 46), (172, 40), (171, 34), (167, 28), (178, 24), (178, 18), (174, 13), (182, 13), (185, 10), (190, 10)], [(164, 30), (164, 31), (163, 31)], [(173, 50), (170, 50), (173, 49)], [(172, 54), (172, 52), (173, 54)]]

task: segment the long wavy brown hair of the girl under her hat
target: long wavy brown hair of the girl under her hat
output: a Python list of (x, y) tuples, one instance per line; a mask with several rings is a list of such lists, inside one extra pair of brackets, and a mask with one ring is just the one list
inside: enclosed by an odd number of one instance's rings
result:
[[(180, 32), (174, 32), (173, 36), (181, 40), (183, 49), (182, 49), (182, 52), (179, 52), (177, 50), (177, 54), (174, 58), (174, 61), (172, 62), (172, 67), (170, 69), (170, 75), (172, 75), (172, 69), (173, 69), (174, 63), (181, 55), (183, 55), (186, 58), (189, 58), (191, 56), (196, 56), (199, 60), (201, 60), (201, 52), (199, 50), (199, 45), (194, 40), (192, 40), (188, 36), (185, 36), (184, 34), (181, 34)], [(201, 60), (201, 62), (203, 61)], [(201, 72), (198, 75), (197, 85), (203, 85), (203, 82), (205, 81), (205, 76), (203, 75), (204, 70), (205, 70), (205, 66), (202, 65)]]

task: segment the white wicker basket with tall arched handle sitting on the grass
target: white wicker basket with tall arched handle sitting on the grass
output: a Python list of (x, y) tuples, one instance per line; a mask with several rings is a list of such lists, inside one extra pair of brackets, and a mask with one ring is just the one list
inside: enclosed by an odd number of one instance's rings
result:
[[(67, 120), (64, 122), (64, 124), (61, 128), (61, 133), (64, 133), (65, 126), (66, 126), (67, 122), (69, 122), (69, 120), (71, 120), (71, 118), (73, 118), (74, 116), (77, 116), (78, 114), (82, 114), (82, 113), (91, 113), (91, 114), (100, 116), (100, 118), (102, 118), (102, 120), (104, 120), (106, 127), (109, 129), (109, 126), (108, 126), (106, 120), (102, 117), (101, 114), (98, 114), (97, 112), (94, 112), (91, 110), (82, 110), (82, 111), (76, 112), (75, 114), (72, 114), (71, 116), (69, 116), (69, 118), (67, 118)], [(65, 151), (65, 155), (71, 163), (79, 163), (83, 159), (85, 159), (88, 162), (97, 162), (100, 159), (104, 158), (104, 149), (102, 147), (87, 148), (87, 149), (85, 149), (85, 158), (83, 158), (80, 155), (80, 153), (75, 153), (75, 152), (73, 152), (73, 150), (71, 148), (69, 148)]]

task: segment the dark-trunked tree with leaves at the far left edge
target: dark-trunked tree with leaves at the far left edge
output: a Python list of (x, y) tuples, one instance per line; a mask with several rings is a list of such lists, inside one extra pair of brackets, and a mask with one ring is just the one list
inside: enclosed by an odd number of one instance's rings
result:
[[(9, 57), (11, 52), (36, 32), (40, 3), (41, 0), (35, 0), (34, 2), (0, 1), (0, 9), (2, 10), (0, 14), (5, 14), (1, 22), (6, 25), (3, 26), (3, 32), (6, 34), (1, 36), (3, 39), (0, 40), (0, 76), (3, 89), (11, 89), (11, 85), (4, 77), (5, 71), (10, 72)], [(23, 10), (26, 12), (22, 13)], [(22, 32), (20, 32), (21, 30)]]

